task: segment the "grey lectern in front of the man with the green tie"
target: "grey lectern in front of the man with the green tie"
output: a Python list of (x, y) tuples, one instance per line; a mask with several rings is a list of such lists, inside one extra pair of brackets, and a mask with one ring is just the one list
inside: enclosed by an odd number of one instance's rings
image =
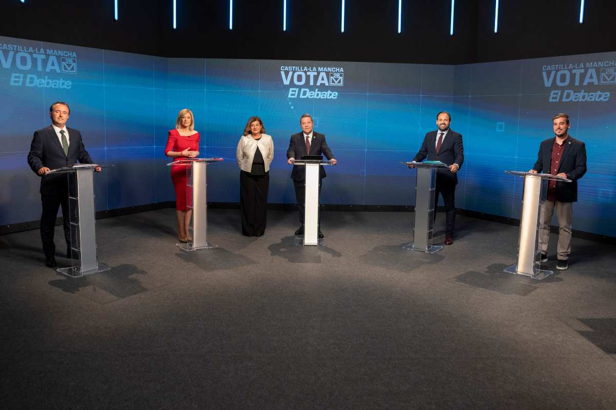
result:
[(57, 271), (71, 278), (94, 275), (111, 269), (105, 263), (99, 263), (96, 255), (94, 167), (97, 166), (74, 164), (52, 169), (48, 173), (67, 174), (71, 266), (58, 268)]

